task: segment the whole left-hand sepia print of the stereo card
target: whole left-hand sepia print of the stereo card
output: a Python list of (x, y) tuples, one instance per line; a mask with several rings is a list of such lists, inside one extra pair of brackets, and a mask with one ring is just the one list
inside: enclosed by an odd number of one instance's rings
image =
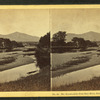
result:
[(0, 91), (50, 90), (49, 31), (48, 9), (0, 9)]

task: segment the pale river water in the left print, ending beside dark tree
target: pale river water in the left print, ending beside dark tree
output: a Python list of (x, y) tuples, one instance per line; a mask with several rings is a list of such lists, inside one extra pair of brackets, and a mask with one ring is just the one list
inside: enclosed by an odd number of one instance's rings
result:
[(27, 65), (18, 66), (16, 68), (1, 71), (0, 72), (0, 83), (16, 81), (23, 77), (34, 75), (37, 73), (39, 73), (39, 67), (36, 66), (36, 62), (27, 64)]

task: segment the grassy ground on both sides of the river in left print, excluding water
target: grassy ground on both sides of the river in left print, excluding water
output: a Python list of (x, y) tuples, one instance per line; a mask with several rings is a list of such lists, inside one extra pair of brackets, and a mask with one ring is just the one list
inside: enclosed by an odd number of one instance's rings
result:
[[(34, 49), (16, 48), (11, 52), (0, 53), (0, 71), (34, 63), (36, 61)], [(33, 65), (34, 67), (34, 65)], [(34, 68), (33, 68), (34, 69)], [(26, 69), (27, 70), (27, 69)], [(22, 73), (21, 73), (22, 74)], [(29, 72), (28, 74), (31, 74)], [(6, 77), (6, 76), (4, 76)], [(0, 91), (49, 91), (50, 66), (46, 66), (39, 73), (22, 77), (16, 81), (0, 83)]]

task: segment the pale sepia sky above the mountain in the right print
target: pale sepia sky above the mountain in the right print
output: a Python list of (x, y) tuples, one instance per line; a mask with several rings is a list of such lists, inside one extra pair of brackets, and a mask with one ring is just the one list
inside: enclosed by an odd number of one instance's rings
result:
[(82, 34), (88, 31), (100, 33), (100, 8), (55, 9), (52, 15), (52, 34), (58, 31)]

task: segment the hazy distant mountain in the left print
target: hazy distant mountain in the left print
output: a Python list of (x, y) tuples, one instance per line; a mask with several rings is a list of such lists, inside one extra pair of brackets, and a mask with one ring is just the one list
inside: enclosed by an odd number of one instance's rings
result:
[(39, 37), (31, 36), (25, 33), (14, 32), (8, 35), (0, 35), (0, 38), (8, 38), (10, 40), (15, 40), (17, 42), (38, 42)]

